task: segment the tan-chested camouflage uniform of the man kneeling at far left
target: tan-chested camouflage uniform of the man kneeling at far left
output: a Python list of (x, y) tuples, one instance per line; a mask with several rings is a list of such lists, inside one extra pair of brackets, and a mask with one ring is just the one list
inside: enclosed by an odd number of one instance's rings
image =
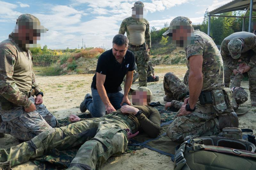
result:
[(0, 115), (3, 121), (0, 133), (26, 141), (44, 130), (56, 127), (57, 120), (42, 104), (36, 105), (34, 112), (25, 112), (23, 107), (32, 104), (28, 98), (32, 86), (35, 87), (35, 94), (41, 91), (32, 71), (31, 52), (20, 48), (12, 34), (0, 43)]

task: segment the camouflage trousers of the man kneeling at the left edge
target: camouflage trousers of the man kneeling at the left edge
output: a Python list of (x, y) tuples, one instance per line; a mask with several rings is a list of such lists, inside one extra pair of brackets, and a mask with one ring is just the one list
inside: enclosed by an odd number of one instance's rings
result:
[[(36, 105), (36, 111), (29, 113), (25, 112), (23, 107), (16, 107), (12, 110), (21, 112), (20, 116), (12, 120), (5, 120), (2, 117), (0, 133), (10, 134), (23, 141), (28, 141), (41, 132), (56, 127), (58, 123), (43, 104)], [(12, 110), (8, 110), (8, 113), (14, 114)], [(1, 110), (0, 107), (0, 112), (3, 114), (6, 110)]]

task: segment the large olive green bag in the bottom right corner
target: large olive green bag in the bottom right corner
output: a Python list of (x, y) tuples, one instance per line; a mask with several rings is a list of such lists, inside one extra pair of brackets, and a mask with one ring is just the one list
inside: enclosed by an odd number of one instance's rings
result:
[(227, 137), (189, 139), (175, 152), (174, 170), (255, 170), (254, 144)]

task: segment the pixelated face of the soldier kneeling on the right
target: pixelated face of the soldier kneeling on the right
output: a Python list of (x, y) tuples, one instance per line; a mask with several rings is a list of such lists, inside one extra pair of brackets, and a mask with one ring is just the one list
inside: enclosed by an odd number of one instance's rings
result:
[(186, 47), (190, 44), (191, 38), (193, 36), (193, 27), (191, 26), (172, 26), (172, 44), (177, 47)]

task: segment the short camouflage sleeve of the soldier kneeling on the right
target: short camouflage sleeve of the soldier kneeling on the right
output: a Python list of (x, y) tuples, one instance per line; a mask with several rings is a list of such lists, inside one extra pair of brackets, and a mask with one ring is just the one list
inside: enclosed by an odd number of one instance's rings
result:
[(186, 47), (187, 58), (193, 55), (203, 55), (204, 48), (205, 48), (204, 40), (200, 36), (195, 35), (194, 43), (189, 44)]

